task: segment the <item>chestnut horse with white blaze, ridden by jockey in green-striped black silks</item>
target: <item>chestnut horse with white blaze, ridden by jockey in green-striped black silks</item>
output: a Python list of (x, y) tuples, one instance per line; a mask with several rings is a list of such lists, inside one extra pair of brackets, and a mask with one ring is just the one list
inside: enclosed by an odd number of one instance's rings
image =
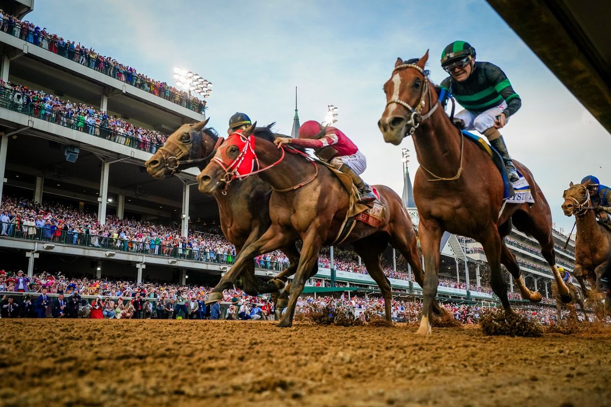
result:
[(431, 301), (437, 292), (439, 242), (444, 231), (481, 243), (491, 268), (492, 290), (503, 308), (511, 312), (501, 263), (518, 283), (522, 298), (541, 301), (540, 293), (525, 286), (518, 262), (503, 240), (513, 222), (541, 244), (562, 300), (570, 301), (569, 290), (555, 265), (552, 215), (532, 173), (514, 160), (530, 184), (535, 204), (503, 204), (503, 181), (491, 158), (476, 143), (465, 141), (444, 109), (439, 109), (437, 93), (424, 70), (427, 59), (428, 51), (414, 63), (397, 59), (392, 76), (384, 84), (386, 109), (378, 121), (387, 143), (399, 145), (406, 135), (413, 134), (420, 164), (414, 179), (414, 199), (420, 215), (418, 234), (425, 283), (418, 333), (431, 333)]

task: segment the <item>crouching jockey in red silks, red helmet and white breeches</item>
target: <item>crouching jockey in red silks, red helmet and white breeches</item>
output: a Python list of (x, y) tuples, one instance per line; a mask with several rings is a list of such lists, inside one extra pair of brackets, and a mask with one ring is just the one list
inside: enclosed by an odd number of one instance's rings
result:
[(367, 168), (367, 159), (340, 129), (323, 126), (315, 120), (308, 120), (299, 128), (299, 139), (277, 137), (274, 143), (279, 147), (291, 143), (305, 148), (313, 148), (314, 154), (318, 158), (329, 162), (333, 167), (352, 179), (354, 185), (359, 189), (359, 202), (376, 200), (371, 187), (359, 176)]

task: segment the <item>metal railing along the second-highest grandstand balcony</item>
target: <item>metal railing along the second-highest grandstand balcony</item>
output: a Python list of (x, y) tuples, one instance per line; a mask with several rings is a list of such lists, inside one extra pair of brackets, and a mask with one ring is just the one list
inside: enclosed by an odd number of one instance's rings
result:
[[(139, 139), (133, 135), (117, 132), (115, 129), (107, 126), (108, 122), (106, 121), (101, 124), (93, 124), (89, 123), (87, 118), (82, 115), (67, 115), (57, 110), (48, 110), (44, 105), (29, 103), (21, 92), (4, 88), (0, 88), (0, 92), (0, 107), (12, 110), (13, 112), (23, 113), (29, 117), (45, 120), (49, 123), (81, 131), (100, 139), (146, 151), (147, 153), (155, 154), (155, 151), (161, 146), (161, 144), (151, 143), (150, 140)], [(21, 95), (21, 98), (16, 99), (16, 95)]]

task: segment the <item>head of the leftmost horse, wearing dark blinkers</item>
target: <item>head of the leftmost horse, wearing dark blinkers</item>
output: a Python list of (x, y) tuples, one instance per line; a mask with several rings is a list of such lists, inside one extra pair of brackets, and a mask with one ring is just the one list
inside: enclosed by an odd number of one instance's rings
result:
[(170, 134), (166, 143), (145, 162), (147, 172), (157, 179), (163, 179), (196, 165), (183, 164), (183, 167), (179, 168), (182, 164), (179, 160), (201, 159), (211, 154), (218, 136), (213, 130), (206, 129), (208, 120), (210, 118), (195, 124), (183, 124)]

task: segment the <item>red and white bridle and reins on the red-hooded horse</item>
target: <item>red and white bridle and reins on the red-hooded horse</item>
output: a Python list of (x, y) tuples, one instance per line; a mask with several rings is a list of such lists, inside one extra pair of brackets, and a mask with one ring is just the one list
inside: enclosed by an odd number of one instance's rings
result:
[[(219, 180), (219, 181), (225, 183), (224, 190), (222, 191), (223, 195), (227, 195), (227, 188), (229, 188), (229, 184), (234, 179), (243, 179), (243, 178), (246, 178), (248, 176), (251, 176), (251, 175), (254, 175), (254, 174), (258, 174), (258, 173), (261, 173), (263, 171), (269, 170), (269, 168), (276, 167), (276, 165), (280, 164), (280, 162), (282, 162), (282, 160), (284, 160), (284, 156), (285, 156), (285, 153), (286, 153), (286, 149), (285, 148), (290, 148), (293, 151), (293, 153), (299, 153), (302, 156), (304, 156), (307, 159), (309, 159), (310, 162), (312, 162), (312, 164), (316, 168), (316, 171), (315, 171), (315, 173), (314, 173), (314, 175), (312, 177), (310, 177), (309, 179), (307, 179), (307, 180), (305, 180), (303, 182), (299, 182), (299, 184), (297, 184), (297, 185), (293, 185), (292, 187), (288, 187), (286, 189), (275, 189), (275, 188), (273, 188), (274, 191), (276, 191), (276, 192), (288, 192), (288, 191), (291, 191), (291, 190), (299, 189), (302, 186), (312, 182), (316, 178), (316, 176), (318, 176), (318, 165), (316, 165), (315, 162), (307, 154), (301, 153), (301, 151), (298, 151), (298, 150), (292, 148), (291, 146), (285, 146), (285, 145), (281, 145), (280, 146), (280, 149), (282, 150), (282, 155), (280, 156), (279, 159), (276, 160), (276, 162), (274, 162), (273, 164), (269, 164), (267, 167), (261, 168), (261, 166), (259, 165), (259, 159), (257, 157), (257, 154), (255, 153), (255, 149), (252, 146), (252, 140), (254, 140), (254, 135), (251, 134), (251, 135), (248, 135), (248, 136), (244, 137), (244, 135), (241, 134), (241, 133), (233, 132), (232, 134), (229, 135), (227, 140), (229, 140), (229, 138), (232, 137), (233, 135), (239, 135), (240, 139), (244, 142), (244, 146), (240, 149), (240, 153), (238, 153), (238, 156), (235, 157), (235, 159), (233, 159), (231, 162), (229, 162), (229, 164), (225, 164), (223, 162), (222, 158), (219, 158), (219, 157), (214, 157), (213, 159), (210, 160), (211, 163), (213, 162), (214, 164), (216, 164), (219, 167), (221, 167), (221, 170), (225, 171), (225, 174)], [(254, 162), (253, 167), (254, 168), (256, 167), (257, 169), (249, 171), (248, 173), (240, 174), (240, 173), (238, 173), (238, 167), (240, 167), (240, 164), (242, 164), (243, 160), (246, 158), (246, 154), (247, 153), (251, 153), (252, 154), (253, 162)]]

